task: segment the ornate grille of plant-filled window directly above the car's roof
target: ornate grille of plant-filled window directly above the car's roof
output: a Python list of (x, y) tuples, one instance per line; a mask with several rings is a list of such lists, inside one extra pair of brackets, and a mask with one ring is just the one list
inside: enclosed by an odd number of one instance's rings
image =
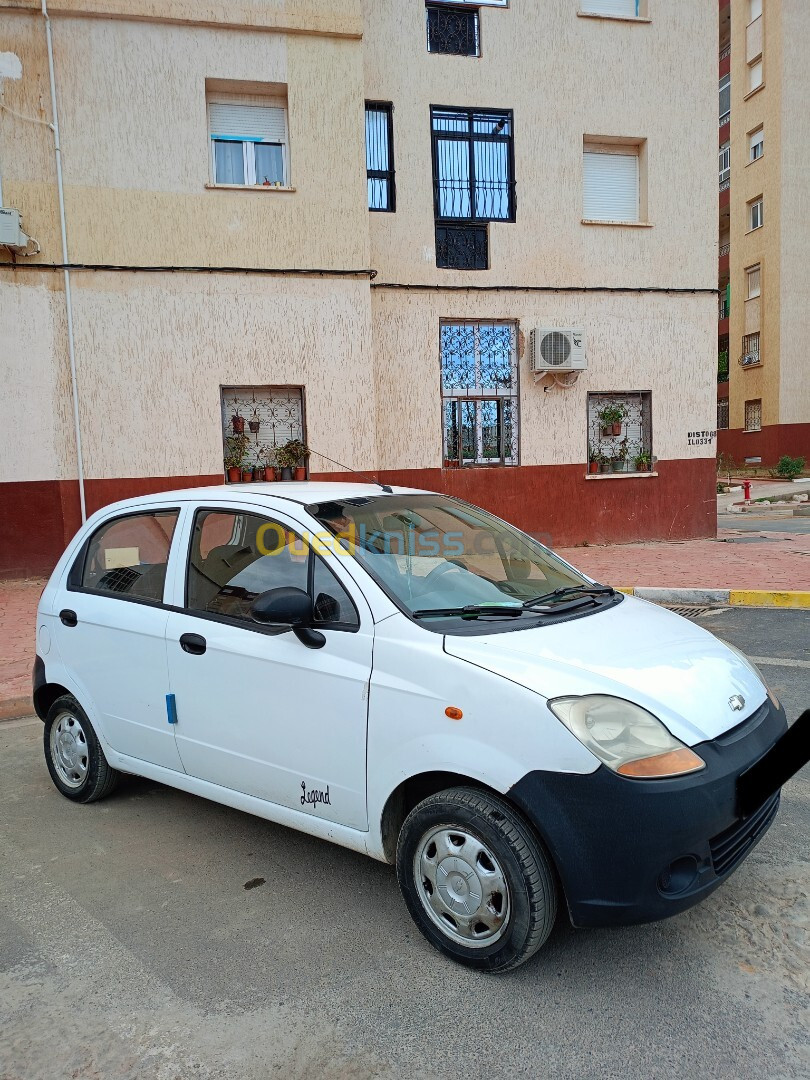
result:
[(303, 442), (303, 391), (298, 387), (222, 387), (221, 416), (224, 443), (229, 435), (247, 436), (244, 464), (249, 468), (272, 463), (272, 451), (291, 438)]

